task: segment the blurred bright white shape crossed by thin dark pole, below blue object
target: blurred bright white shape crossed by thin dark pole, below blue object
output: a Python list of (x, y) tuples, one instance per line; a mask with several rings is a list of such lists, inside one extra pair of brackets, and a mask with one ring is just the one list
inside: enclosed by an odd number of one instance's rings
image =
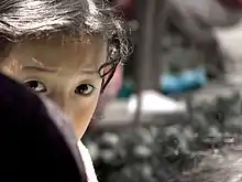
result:
[[(142, 114), (170, 114), (170, 113), (183, 113), (186, 111), (185, 103), (175, 101), (167, 96), (158, 94), (154, 90), (144, 90), (141, 94)], [(132, 96), (128, 103), (128, 110), (130, 113), (135, 113), (138, 107), (138, 97)]]

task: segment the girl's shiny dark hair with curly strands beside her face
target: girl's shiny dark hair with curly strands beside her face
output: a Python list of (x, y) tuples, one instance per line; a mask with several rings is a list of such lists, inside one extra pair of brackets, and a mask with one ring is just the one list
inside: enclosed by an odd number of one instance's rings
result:
[(103, 36), (108, 42), (108, 58), (99, 69), (103, 79), (102, 90), (113, 76), (117, 65), (129, 55), (124, 28), (123, 21), (102, 0), (0, 1), (0, 49), (4, 51), (4, 55), (8, 54), (9, 43), (25, 39), (51, 38), (59, 33), (70, 36)]

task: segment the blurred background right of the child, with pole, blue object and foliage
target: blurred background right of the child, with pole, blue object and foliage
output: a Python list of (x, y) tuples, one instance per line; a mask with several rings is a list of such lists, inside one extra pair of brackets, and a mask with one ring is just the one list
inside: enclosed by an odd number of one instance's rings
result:
[(100, 182), (168, 182), (241, 140), (242, 1), (111, 0), (131, 30), (84, 138)]

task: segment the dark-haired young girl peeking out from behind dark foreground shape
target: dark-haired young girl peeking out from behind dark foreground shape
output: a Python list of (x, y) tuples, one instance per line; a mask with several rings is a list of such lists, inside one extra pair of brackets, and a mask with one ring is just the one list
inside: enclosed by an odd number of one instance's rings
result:
[[(2, 0), (0, 67), (36, 94), (57, 103), (82, 137), (116, 67), (128, 56), (120, 19), (92, 0)], [(97, 181), (78, 142), (88, 181)]]

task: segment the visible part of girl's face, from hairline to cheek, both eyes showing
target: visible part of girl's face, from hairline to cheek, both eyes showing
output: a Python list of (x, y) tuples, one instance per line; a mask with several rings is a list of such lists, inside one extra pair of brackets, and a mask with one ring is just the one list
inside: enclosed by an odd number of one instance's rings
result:
[(3, 73), (37, 94), (57, 103), (74, 120), (78, 138), (84, 135), (97, 105), (107, 44), (86, 36), (26, 41), (13, 45), (0, 64)]

